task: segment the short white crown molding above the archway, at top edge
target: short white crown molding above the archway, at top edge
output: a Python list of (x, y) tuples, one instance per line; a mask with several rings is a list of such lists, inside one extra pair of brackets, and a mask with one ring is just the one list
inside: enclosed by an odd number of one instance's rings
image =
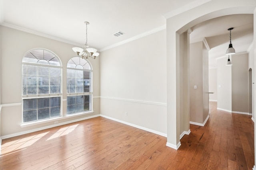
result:
[(210, 2), (210, 1), (211, 0), (194, 0), (193, 2), (190, 2), (180, 8), (177, 8), (176, 10), (168, 12), (167, 14), (164, 15), (164, 18), (166, 18), (166, 19), (171, 18), (173, 16), (181, 14), (182, 12), (186, 12), (188, 10), (196, 8), (197, 6), (200, 6), (200, 5)]

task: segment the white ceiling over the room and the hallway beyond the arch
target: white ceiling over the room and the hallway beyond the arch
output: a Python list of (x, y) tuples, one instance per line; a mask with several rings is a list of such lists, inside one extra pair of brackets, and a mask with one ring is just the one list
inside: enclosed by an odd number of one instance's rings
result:
[[(210, 0), (0, 0), (0, 24), (64, 41), (74, 46), (85, 43), (104, 51), (166, 28), (168, 14), (175, 15)], [(253, 15), (231, 15), (199, 23), (191, 28), (190, 42), (206, 39), (209, 67), (224, 56), (232, 30), (237, 53), (245, 52), (253, 41)], [(120, 37), (113, 34), (122, 31)]]

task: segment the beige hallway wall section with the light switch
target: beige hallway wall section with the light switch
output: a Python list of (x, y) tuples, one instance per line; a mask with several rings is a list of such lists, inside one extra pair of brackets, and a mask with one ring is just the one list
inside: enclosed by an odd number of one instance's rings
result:
[(203, 41), (192, 43), (190, 44), (190, 121), (193, 123), (203, 124), (208, 116), (208, 84), (208, 51)]

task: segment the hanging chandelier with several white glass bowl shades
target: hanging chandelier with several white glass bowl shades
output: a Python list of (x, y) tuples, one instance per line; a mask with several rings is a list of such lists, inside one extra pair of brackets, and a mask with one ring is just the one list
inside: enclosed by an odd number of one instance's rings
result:
[(82, 59), (88, 59), (89, 57), (95, 59), (99, 55), (99, 53), (97, 53), (97, 50), (94, 48), (88, 48), (89, 46), (87, 43), (87, 25), (89, 25), (89, 22), (85, 21), (84, 24), (86, 24), (86, 43), (83, 45), (83, 48), (73, 47), (72, 50), (76, 52), (76, 54)]

